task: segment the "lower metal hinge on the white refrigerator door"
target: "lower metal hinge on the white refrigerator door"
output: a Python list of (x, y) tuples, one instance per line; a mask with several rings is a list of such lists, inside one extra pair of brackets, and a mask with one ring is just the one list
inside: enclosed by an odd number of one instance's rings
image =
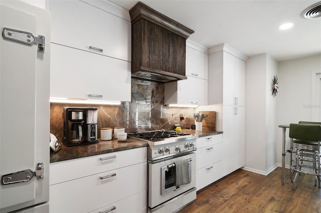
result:
[(18, 183), (30, 181), (33, 177), (38, 177), (38, 179), (44, 178), (44, 163), (40, 162), (37, 165), (37, 170), (33, 171), (31, 169), (18, 171), (10, 174), (3, 175), (1, 178), (2, 184)]

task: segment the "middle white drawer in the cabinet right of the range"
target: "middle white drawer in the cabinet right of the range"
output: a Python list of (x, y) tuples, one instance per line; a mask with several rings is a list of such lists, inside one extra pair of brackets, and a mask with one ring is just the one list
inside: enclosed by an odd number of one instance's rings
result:
[(223, 143), (205, 146), (196, 150), (196, 169), (222, 160)]

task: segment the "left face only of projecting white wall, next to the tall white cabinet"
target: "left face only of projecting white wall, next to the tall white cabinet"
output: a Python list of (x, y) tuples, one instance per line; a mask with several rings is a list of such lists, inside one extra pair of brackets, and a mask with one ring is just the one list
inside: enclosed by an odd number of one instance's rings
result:
[(266, 54), (246, 61), (245, 168), (265, 172)]

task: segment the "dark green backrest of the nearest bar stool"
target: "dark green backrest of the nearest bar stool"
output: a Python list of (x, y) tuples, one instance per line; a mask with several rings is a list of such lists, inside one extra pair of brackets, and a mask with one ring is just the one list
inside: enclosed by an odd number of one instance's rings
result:
[(290, 123), (289, 137), (301, 140), (321, 140), (321, 123)]

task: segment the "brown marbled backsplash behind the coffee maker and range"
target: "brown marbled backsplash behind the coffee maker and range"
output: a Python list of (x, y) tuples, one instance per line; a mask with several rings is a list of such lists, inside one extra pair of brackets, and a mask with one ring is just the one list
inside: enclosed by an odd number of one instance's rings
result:
[[(157, 82), (142, 83), (131, 79), (131, 102), (120, 105), (94, 104), (50, 104), (50, 131), (63, 138), (64, 107), (98, 108), (98, 138), (101, 127), (124, 126), (126, 132), (173, 129), (174, 124), (190, 128), (194, 124), (195, 108), (177, 108), (164, 106), (164, 84)], [(184, 120), (180, 120), (183, 114)]]

